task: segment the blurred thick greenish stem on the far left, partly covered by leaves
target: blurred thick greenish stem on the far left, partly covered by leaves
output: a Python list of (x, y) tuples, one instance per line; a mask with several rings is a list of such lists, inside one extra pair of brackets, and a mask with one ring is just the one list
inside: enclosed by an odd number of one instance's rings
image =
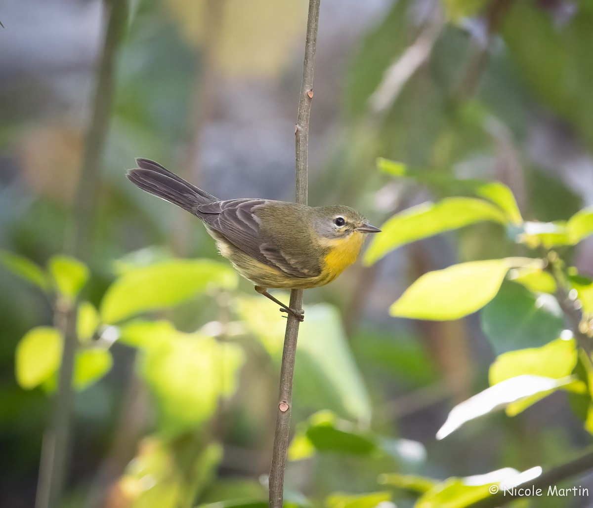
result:
[[(93, 116), (85, 137), (84, 157), (74, 201), (72, 236), (66, 251), (79, 259), (86, 259), (90, 250), (91, 232), (96, 207), (97, 188), (111, 102), (115, 88), (115, 56), (127, 24), (127, 0), (105, 0), (109, 21), (105, 33), (103, 53), (97, 69), (97, 85), (93, 102)], [(37, 483), (36, 508), (54, 508), (62, 496), (69, 448), (70, 413), (72, 405), (72, 371), (76, 355), (76, 305), (58, 301), (56, 327), (64, 336), (62, 363), (58, 378), (58, 392), (50, 427), (43, 436)]]

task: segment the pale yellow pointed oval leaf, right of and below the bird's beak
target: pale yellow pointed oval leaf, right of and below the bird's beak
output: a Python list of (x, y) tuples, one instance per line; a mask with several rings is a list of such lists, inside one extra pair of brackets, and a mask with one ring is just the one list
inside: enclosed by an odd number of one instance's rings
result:
[(508, 259), (473, 261), (422, 275), (390, 307), (391, 316), (451, 320), (486, 305), (509, 269)]

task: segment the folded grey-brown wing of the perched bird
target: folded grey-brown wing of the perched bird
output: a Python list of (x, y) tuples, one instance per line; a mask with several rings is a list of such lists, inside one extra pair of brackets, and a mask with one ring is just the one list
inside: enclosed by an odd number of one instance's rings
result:
[[(268, 200), (244, 199), (215, 201), (196, 207), (195, 213), (211, 229), (221, 234), (229, 243), (248, 256), (284, 274), (297, 277), (314, 277), (321, 273), (321, 266), (312, 255), (291, 255), (288, 245), (279, 239), (262, 234), (262, 220), (257, 211), (270, 204)], [(288, 234), (291, 234), (287, 228)], [(306, 242), (310, 247), (310, 242)], [(283, 248), (285, 247), (285, 248)]]

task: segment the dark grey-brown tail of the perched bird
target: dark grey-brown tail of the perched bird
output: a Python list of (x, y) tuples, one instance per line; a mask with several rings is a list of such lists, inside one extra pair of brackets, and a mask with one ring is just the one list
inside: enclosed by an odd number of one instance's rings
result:
[(139, 188), (195, 213), (196, 205), (219, 201), (212, 194), (186, 182), (154, 160), (136, 159), (138, 168), (128, 169), (126, 176)]

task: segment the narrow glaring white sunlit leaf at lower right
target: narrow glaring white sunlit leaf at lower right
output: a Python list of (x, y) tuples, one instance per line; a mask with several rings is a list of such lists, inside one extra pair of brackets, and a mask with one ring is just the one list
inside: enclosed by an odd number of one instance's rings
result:
[(436, 439), (447, 437), (464, 423), (474, 420), (479, 416), (502, 409), (513, 402), (532, 397), (542, 392), (548, 394), (550, 390), (556, 390), (572, 382), (573, 380), (570, 377), (557, 380), (535, 375), (519, 375), (501, 381), (457, 404), (449, 412), (447, 420), (436, 433)]

